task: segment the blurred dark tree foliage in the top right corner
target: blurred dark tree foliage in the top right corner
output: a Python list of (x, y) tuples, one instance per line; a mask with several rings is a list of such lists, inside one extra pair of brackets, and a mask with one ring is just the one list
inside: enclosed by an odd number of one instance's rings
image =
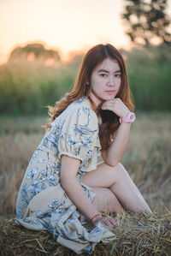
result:
[(121, 18), (133, 43), (171, 45), (168, 0), (125, 0), (125, 4)]

